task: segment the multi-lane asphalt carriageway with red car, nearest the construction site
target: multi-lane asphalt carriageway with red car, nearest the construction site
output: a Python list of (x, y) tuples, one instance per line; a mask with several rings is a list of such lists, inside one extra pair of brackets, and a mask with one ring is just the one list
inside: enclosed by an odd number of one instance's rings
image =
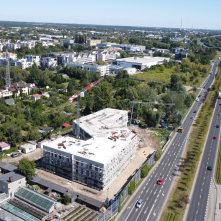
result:
[[(138, 188), (138, 190), (132, 195), (129, 202), (116, 217), (116, 221), (159, 220), (170, 190), (177, 177), (177, 172), (188, 138), (188, 133), (194, 120), (191, 119), (191, 117), (195, 117), (200, 106), (202, 105), (201, 100), (204, 93), (213, 82), (217, 64), (218, 62), (216, 61), (212, 69), (213, 74), (211, 74), (205, 84), (202, 85), (203, 90), (201, 92), (202, 96), (200, 97), (200, 101), (194, 103), (192, 109), (182, 124), (184, 127), (183, 133), (176, 134), (172, 143), (168, 147), (168, 150), (160, 159), (160, 162), (158, 162), (155, 169), (151, 171), (151, 174), (147, 177), (147, 179), (143, 181), (140, 188)], [(197, 113), (193, 113), (195, 110)], [(160, 178), (163, 179), (163, 184), (157, 185), (157, 180)], [(135, 207), (135, 205), (139, 199), (143, 199), (144, 202), (143, 205), (138, 209)], [(192, 221), (192, 219), (189, 220)]]

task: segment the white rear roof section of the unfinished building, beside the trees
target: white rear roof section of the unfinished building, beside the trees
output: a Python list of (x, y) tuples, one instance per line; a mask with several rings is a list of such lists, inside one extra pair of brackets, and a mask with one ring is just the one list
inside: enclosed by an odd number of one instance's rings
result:
[[(80, 128), (90, 134), (92, 137), (106, 137), (110, 132), (125, 128), (117, 121), (122, 116), (128, 114), (128, 111), (106, 108), (80, 118)], [(76, 120), (73, 121), (75, 124)], [(127, 122), (125, 122), (127, 125)]]

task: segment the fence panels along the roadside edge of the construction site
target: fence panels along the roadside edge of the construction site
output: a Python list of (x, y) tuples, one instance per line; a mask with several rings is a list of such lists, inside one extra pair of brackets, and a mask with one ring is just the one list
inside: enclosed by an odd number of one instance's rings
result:
[(101, 213), (97, 218), (95, 218), (93, 221), (109, 221), (112, 219), (117, 213), (118, 213), (118, 207), (119, 203), (122, 205), (124, 201), (128, 197), (128, 187), (130, 186), (131, 182), (134, 182), (137, 184), (141, 179), (141, 167), (145, 165), (146, 163), (149, 164), (149, 166), (152, 166), (155, 162), (155, 154), (156, 151), (154, 151), (151, 156), (144, 161), (144, 163), (136, 170), (135, 174), (132, 176), (130, 181), (118, 191), (118, 193), (115, 195), (115, 200), (112, 201), (111, 205), (107, 208), (107, 210), (103, 213)]

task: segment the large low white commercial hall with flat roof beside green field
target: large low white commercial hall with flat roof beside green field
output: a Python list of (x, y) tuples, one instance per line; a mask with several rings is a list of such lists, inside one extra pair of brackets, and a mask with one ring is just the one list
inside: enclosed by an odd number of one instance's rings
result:
[(145, 68), (150, 68), (153, 65), (161, 65), (164, 60), (170, 61), (170, 58), (164, 57), (130, 57), (130, 58), (121, 58), (113, 62), (115, 65), (123, 66), (124, 68), (136, 68), (143, 70)]

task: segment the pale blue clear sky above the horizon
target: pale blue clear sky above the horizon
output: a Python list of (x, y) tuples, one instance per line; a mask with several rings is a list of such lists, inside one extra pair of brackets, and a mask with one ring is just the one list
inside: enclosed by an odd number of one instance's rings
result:
[[(10, 2), (10, 4), (9, 4)], [(221, 30), (221, 0), (1, 0), (1, 21)]]

